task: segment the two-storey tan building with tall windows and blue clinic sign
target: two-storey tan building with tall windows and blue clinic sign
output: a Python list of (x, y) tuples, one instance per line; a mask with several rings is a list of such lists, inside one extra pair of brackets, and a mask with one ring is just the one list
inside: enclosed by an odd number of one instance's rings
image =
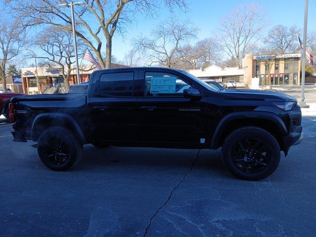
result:
[(299, 85), (301, 53), (278, 55), (247, 54), (242, 59), (244, 79), (251, 84), (252, 78), (259, 78), (259, 85)]

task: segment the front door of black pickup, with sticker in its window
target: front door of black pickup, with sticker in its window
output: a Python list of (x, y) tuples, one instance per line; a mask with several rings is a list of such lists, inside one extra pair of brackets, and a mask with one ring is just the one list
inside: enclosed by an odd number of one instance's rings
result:
[[(204, 143), (206, 138), (206, 98), (183, 96), (186, 88), (197, 88), (182, 74), (139, 71), (137, 97), (137, 140), (158, 143)], [(201, 88), (197, 88), (201, 93)]]

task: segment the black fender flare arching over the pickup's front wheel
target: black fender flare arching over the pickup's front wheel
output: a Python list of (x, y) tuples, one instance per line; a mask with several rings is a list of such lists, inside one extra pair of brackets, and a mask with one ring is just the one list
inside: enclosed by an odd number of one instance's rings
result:
[(270, 120), (276, 124), (282, 136), (285, 136), (287, 134), (287, 129), (284, 122), (282, 121), (280, 117), (278, 117), (274, 113), (264, 112), (264, 111), (233, 112), (231, 114), (224, 116), (218, 123), (215, 129), (215, 132), (213, 134), (211, 149), (219, 148), (219, 141), (221, 139), (221, 134), (223, 134), (226, 125), (230, 123), (231, 121), (235, 119), (240, 119), (240, 118), (260, 118), (260, 119)]

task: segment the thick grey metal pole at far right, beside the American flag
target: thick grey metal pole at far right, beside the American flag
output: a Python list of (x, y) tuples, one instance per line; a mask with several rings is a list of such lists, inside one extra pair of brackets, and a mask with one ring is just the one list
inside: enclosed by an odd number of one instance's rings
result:
[(302, 56), (302, 87), (301, 87), (301, 101), (299, 105), (301, 108), (310, 108), (305, 102), (305, 64), (306, 64), (306, 37), (307, 37), (307, 13), (308, 13), (308, 0), (305, 0), (304, 11), (304, 36), (303, 36), (303, 56)]

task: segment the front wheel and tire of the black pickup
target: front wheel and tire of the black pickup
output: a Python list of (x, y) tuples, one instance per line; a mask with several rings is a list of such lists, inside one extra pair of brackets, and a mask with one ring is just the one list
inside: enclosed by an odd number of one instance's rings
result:
[(268, 131), (244, 126), (227, 136), (222, 146), (222, 160), (237, 178), (261, 180), (276, 170), (280, 161), (280, 147)]

